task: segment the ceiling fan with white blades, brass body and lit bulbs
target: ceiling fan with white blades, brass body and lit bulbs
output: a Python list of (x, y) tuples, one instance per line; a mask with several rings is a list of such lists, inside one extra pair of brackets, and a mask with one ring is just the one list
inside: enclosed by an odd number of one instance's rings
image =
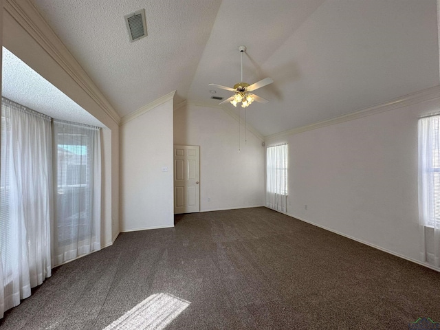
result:
[[(241, 54), (241, 81), (243, 81), (243, 53), (245, 52), (245, 50), (246, 50), (245, 46), (239, 47), (239, 51)], [(235, 93), (233, 96), (231, 96), (227, 100), (224, 100), (223, 102), (220, 102), (219, 104), (225, 102), (231, 102), (232, 105), (236, 107), (236, 104), (241, 102), (241, 107), (245, 108), (248, 107), (249, 104), (254, 102), (254, 100), (260, 103), (269, 102), (265, 98), (261, 98), (260, 96), (253, 94), (252, 91), (255, 91), (256, 89), (259, 89), (266, 85), (272, 84), (273, 82), (274, 80), (272, 78), (264, 78), (263, 80), (260, 80), (252, 85), (249, 85), (248, 83), (236, 83), (232, 88), (217, 84), (209, 84), (209, 85), (219, 87), (221, 89), (226, 89), (227, 91), (233, 91)]]

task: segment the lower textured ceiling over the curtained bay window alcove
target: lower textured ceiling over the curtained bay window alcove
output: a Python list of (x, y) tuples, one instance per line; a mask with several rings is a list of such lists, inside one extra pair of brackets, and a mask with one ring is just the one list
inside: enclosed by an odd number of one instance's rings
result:
[(1, 93), (5, 98), (52, 118), (104, 127), (62, 91), (3, 47)]

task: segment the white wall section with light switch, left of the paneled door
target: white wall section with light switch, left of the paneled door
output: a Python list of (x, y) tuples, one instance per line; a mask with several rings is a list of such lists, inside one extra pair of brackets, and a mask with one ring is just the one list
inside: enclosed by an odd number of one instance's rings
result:
[(173, 100), (124, 123), (120, 146), (121, 232), (173, 227)]

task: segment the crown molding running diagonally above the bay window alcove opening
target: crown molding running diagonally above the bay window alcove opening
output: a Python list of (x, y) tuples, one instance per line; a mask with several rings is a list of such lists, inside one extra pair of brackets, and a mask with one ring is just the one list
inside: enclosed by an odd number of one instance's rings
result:
[(30, 0), (5, 0), (3, 1), (3, 8), (72, 77), (75, 83), (98, 104), (104, 113), (109, 115), (116, 124), (120, 123), (120, 115), (116, 113), (109, 101), (96, 87), (74, 56), (67, 50), (63, 42), (56, 36), (50, 25), (47, 24)]

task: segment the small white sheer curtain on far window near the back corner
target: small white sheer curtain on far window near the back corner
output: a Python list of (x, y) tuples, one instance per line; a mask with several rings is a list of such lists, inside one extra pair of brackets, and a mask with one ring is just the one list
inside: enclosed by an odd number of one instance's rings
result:
[(266, 149), (266, 206), (287, 212), (287, 144)]

